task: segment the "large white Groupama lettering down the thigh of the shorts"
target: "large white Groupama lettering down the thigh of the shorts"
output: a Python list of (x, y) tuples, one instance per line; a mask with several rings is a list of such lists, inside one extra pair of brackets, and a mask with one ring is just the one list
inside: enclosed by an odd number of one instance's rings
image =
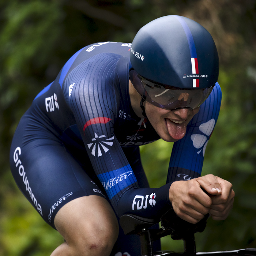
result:
[[(37, 203), (37, 199), (35, 198), (34, 194), (32, 193), (32, 190), (31, 190), (31, 188), (29, 186), (29, 180), (27, 179), (26, 172), (25, 172), (24, 166), (22, 165), (22, 162), (19, 159), (19, 155), (21, 155), (21, 149), (20, 149), (20, 147), (17, 147), (15, 149), (14, 155), (13, 155), (14, 162), (16, 163), (16, 167), (17, 167), (17, 169), (19, 171), (19, 175), (20, 175), (20, 177), (22, 177), (24, 185), (26, 186), (26, 191), (29, 192), (29, 195), (30, 195), (30, 197), (32, 199), (32, 202), (35, 204), (35, 207), (37, 208), (39, 213), (41, 215), (43, 215), (42, 207), (41, 207), (41, 205), (39, 203)], [(18, 168), (18, 166), (19, 166), (19, 168)]]

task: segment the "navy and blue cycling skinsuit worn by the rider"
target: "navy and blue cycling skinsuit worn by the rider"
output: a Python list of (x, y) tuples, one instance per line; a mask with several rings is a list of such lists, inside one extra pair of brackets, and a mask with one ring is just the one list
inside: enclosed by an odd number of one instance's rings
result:
[[(88, 195), (106, 197), (118, 217), (131, 213), (158, 219), (170, 208), (170, 182), (201, 174), (221, 105), (218, 83), (189, 122), (184, 138), (174, 143), (167, 184), (149, 188), (139, 146), (159, 136), (131, 107), (130, 47), (101, 42), (79, 50), (35, 97), (16, 129), (12, 174), (53, 227), (65, 203)], [(112, 254), (123, 248), (117, 246)]]

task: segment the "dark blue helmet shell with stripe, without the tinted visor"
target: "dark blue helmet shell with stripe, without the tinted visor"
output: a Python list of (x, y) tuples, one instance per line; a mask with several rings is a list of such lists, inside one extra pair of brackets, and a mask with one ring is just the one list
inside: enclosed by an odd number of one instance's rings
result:
[(177, 89), (205, 89), (214, 86), (219, 75), (218, 52), (210, 33), (177, 15), (142, 27), (133, 39), (130, 60), (142, 78)]

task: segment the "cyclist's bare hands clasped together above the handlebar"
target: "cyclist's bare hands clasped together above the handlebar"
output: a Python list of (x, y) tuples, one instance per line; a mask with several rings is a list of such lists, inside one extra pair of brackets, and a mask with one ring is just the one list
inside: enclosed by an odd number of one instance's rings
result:
[(226, 219), (233, 207), (234, 196), (232, 184), (212, 174), (175, 181), (169, 190), (173, 210), (190, 223), (199, 222), (207, 213), (214, 220)]

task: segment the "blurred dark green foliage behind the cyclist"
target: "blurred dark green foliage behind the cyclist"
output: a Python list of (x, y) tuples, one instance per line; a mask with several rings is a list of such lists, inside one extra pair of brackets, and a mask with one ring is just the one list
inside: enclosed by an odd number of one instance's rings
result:
[[(196, 20), (218, 48), (223, 98), (203, 174), (233, 183), (226, 221), (208, 221), (197, 249), (256, 248), (256, 0), (1, 0), (0, 1), (0, 255), (46, 256), (63, 242), (19, 192), (9, 148), (19, 118), (65, 62), (94, 42), (132, 42), (164, 15)], [(166, 150), (169, 148), (169, 152)], [(172, 143), (141, 148), (151, 187), (165, 184)], [(182, 251), (182, 242), (163, 240)]]

